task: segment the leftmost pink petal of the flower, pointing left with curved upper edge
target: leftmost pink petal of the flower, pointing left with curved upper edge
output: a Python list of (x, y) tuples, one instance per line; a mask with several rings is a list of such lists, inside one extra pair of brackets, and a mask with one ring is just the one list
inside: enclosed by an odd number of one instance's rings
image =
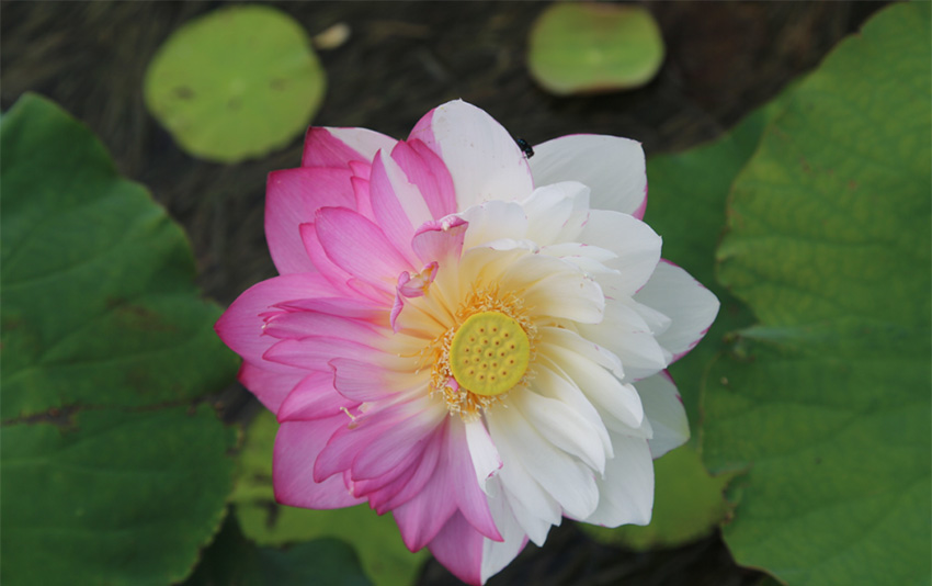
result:
[(283, 274), (257, 283), (246, 290), (224, 315), (214, 329), (224, 343), (248, 362), (262, 364), (265, 370), (288, 372), (275, 364), (263, 364), (262, 356), (277, 340), (263, 336), (262, 315), (283, 301), (323, 296), (333, 296), (333, 286), (320, 274)]

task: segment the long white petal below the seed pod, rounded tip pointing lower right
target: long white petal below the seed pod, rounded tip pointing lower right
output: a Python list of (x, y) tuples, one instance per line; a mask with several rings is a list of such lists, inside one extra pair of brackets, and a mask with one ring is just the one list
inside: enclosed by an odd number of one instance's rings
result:
[[(513, 462), (520, 462), (567, 516), (584, 518), (595, 510), (599, 492), (588, 466), (548, 442), (518, 409), (489, 409), (486, 418), (504, 461), (502, 473)], [(504, 476), (502, 480), (507, 486), (510, 484)], [(518, 494), (516, 488), (513, 492)]]

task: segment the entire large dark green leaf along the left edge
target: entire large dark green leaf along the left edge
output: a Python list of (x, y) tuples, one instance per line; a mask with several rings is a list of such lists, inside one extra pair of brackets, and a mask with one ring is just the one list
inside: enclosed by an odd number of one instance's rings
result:
[(231, 483), (235, 436), (187, 407), (236, 372), (219, 308), (181, 229), (55, 104), (20, 99), (0, 149), (0, 582), (182, 579)]

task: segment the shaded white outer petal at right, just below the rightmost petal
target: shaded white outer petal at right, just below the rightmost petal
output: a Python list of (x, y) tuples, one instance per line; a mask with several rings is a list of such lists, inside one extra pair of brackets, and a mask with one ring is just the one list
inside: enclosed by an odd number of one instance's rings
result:
[(666, 372), (655, 374), (635, 383), (644, 413), (653, 429), (648, 440), (650, 455), (660, 458), (673, 448), (679, 448), (690, 439), (690, 422), (686, 409), (677, 392), (677, 385)]

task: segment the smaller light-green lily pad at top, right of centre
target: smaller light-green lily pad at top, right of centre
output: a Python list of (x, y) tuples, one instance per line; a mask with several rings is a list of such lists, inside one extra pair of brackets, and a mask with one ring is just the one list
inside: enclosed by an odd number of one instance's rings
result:
[(531, 76), (558, 95), (637, 88), (662, 61), (660, 27), (640, 7), (556, 3), (531, 31)]

